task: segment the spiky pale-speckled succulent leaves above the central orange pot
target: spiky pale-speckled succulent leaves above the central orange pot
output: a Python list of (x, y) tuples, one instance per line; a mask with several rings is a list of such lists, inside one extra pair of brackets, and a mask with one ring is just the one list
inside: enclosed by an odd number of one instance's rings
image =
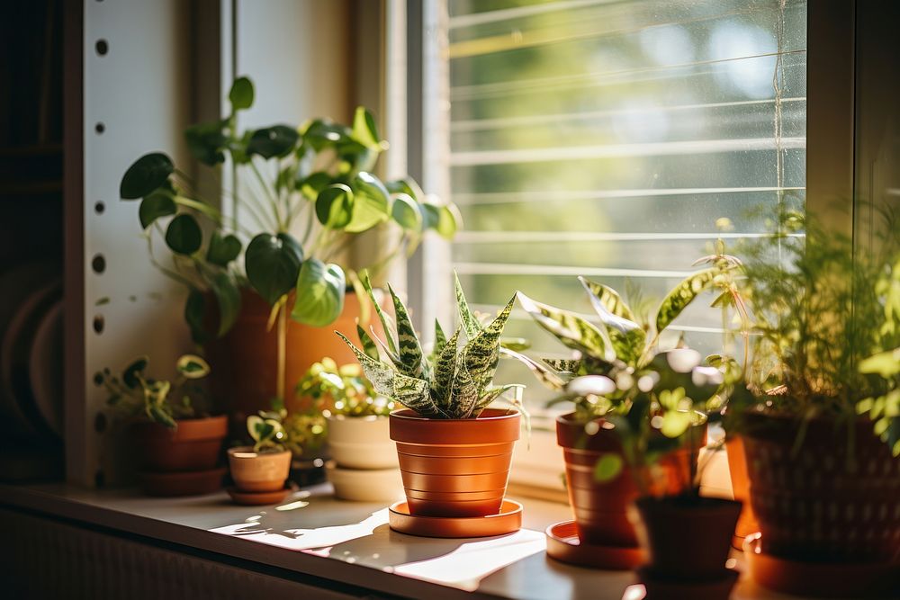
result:
[[(435, 346), (426, 354), (419, 335), (412, 327), (410, 314), (397, 294), (388, 286), (393, 300), (396, 325), (375, 300), (368, 276), (365, 291), (373, 300), (381, 318), (386, 342), (369, 336), (356, 326), (363, 348), (353, 345), (347, 336), (336, 332), (349, 345), (375, 391), (392, 398), (420, 416), (438, 419), (464, 419), (479, 416), (484, 407), (517, 384), (492, 386), (500, 360), (500, 336), (509, 319), (513, 296), (490, 323), (482, 322), (469, 309), (459, 279), (455, 280), (456, 306), (461, 325), (446, 337), (435, 322)], [(378, 341), (376, 345), (375, 340)], [(379, 347), (380, 346), (380, 347)], [(387, 360), (383, 360), (384, 355)]]

